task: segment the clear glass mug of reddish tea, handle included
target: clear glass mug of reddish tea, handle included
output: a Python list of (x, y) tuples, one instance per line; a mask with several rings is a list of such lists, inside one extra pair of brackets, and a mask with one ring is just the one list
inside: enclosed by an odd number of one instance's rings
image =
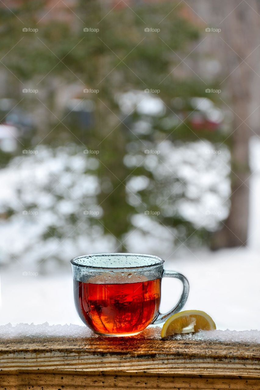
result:
[[(153, 255), (94, 254), (71, 260), (74, 300), (82, 321), (104, 336), (132, 336), (180, 311), (189, 294), (181, 273), (166, 271)], [(163, 277), (177, 278), (183, 291), (168, 313), (159, 311)]]

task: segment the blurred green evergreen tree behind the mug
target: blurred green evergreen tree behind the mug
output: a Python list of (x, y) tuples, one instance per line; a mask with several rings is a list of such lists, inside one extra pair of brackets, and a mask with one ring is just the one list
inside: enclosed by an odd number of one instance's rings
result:
[[(217, 143), (223, 140), (223, 135), (212, 131), (207, 121), (201, 122), (199, 133), (192, 129), (191, 114), (199, 113), (199, 109), (191, 104), (191, 97), (209, 97), (209, 94), (196, 74), (187, 77), (187, 72), (181, 71), (181, 57), (190, 55), (191, 44), (199, 37), (198, 26), (181, 16), (182, 7), (171, 2), (138, 2), (131, 4), (131, 8), (116, 7), (112, 11), (111, 8), (109, 2), (96, 0), (75, 2), (73, 13), (68, 7), (63, 7), (62, 12), (55, 8), (48, 12), (43, 1), (20, 2), (12, 11), (1, 7), (0, 55), (4, 57), (3, 66), (20, 80), (20, 91), (22, 83), (30, 81), (46, 92), (43, 103), (49, 121), (46, 128), (47, 122), (43, 122), (45, 126), (38, 134), (45, 143), (55, 146), (73, 140), (82, 145), (82, 151), (88, 148), (100, 152), (97, 155), (99, 202), (103, 208), (100, 222), (107, 233), (118, 239), (118, 248), (125, 250), (122, 241), (132, 227), (131, 216), (160, 209), (156, 196), (150, 196), (157, 184), (157, 194), (169, 198), (169, 204), (175, 202), (178, 187), (175, 184), (180, 183), (176, 175), (166, 179), (167, 183), (158, 181), (153, 170), (146, 167), (145, 150), (158, 149), (166, 138), (169, 142), (202, 138)], [(38, 31), (30, 32), (28, 28)], [(71, 83), (82, 85), (82, 99), (90, 96), (84, 89), (99, 91), (91, 93), (96, 118), (88, 133), (73, 125), (68, 128), (55, 113), (55, 89), (59, 84)], [(139, 101), (124, 116), (120, 107), (122, 95), (147, 89), (159, 90), (160, 101), (164, 102), (160, 115), (144, 115), (138, 110)], [(181, 101), (181, 108), (175, 98)], [(24, 103), (29, 101), (25, 99)], [(37, 96), (30, 100), (31, 106), (41, 104)], [(141, 122), (149, 128), (143, 135), (136, 131)], [(124, 158), (133, 141), (142, 160), (130, 168)], [(147, 177), (149, 185), (134, 193), (128, 182), (140, 176)], [(175, 227), (177, 237), (178, 227), (184, 239), (194, 231), (192, 223), (176, 208), (154, 218)], [(203, 228), (196, 232), (204, 239), (206, 233)]]

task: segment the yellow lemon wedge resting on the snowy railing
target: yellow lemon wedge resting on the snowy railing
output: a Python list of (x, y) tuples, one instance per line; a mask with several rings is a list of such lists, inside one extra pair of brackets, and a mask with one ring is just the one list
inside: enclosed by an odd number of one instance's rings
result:
[(192, 333), (199, 330), (214, 330), (216, 325), (213, 319), (200, 310), (185, 310), (173, 314), (162, 327), (161, 336), (167, 337), (175, 333)]

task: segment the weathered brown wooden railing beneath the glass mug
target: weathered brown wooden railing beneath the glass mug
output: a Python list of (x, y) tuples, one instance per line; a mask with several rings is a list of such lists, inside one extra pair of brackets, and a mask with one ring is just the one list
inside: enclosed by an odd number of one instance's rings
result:
[(0, 339), (0, 389), (260, 389), (260, 344), (129, 338)]

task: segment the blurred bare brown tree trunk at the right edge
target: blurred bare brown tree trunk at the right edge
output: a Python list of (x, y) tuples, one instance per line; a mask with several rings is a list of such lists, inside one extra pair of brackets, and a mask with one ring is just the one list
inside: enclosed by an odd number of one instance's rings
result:
[[(194, 7), (194, 2), (190, 4)], [(226, 90), (222, 101), (233, 113), (232, 131), (226, 140), (231, 151), (231, 207), (222, 229), (212, 238), (212, 248), (242, 246), (248, 240), (249, 139), (259, 137), (260, 3), (201, 0), (195, 7), (210, 26), (221, 27), (218, 36), (209, 37), (206, 50), (221, 64), (221, 88)]]

